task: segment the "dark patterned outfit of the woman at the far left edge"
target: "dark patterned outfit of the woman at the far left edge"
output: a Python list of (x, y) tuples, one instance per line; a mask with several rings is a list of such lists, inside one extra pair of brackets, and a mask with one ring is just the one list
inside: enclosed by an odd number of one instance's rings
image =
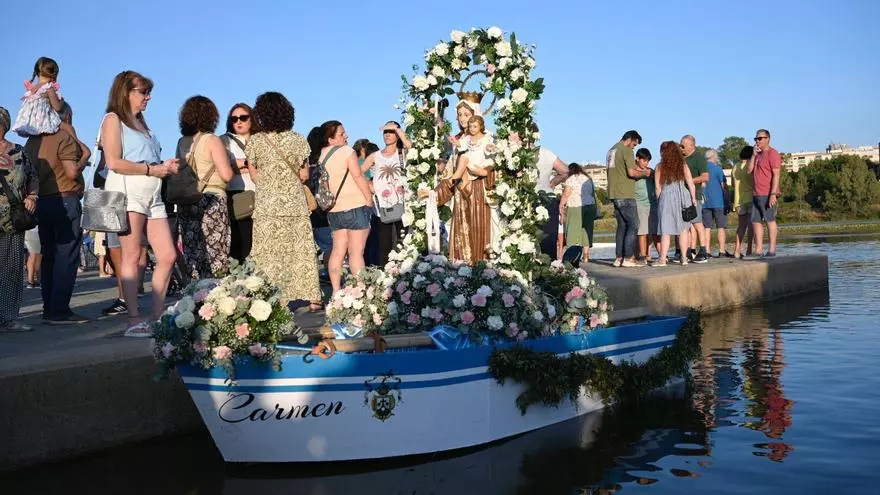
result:
[[(37, 171), (31, 165), (24, 148), (14, 145), (0, 156), (0, 174), (22, 199), (37, 192)], [(12, 228), (9, 201), (0, 190), (0, 327), (18, 318), (21, 294), (24, 289), (24, 232)]]

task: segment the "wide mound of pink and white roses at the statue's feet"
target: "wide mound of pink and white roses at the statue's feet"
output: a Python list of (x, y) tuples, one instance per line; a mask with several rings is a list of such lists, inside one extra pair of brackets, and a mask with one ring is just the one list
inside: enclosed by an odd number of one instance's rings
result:
[(445, 256), (397, 254), (383, 270), (350, 277), (331, 300), (327, 321), (339, 337), (430, 332), (438, 327), (474, 343), (522, 341), (582, 332), (608, 323), (611, 305), (580, 268), (554, 263), (529, 283), (514, 270)]

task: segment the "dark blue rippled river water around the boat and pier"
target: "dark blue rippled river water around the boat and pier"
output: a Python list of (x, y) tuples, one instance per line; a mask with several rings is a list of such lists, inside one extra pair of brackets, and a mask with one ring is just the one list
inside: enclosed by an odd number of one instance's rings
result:
[[(880, 493), (880, 238), (789, 238), (829, 290), (704, 318), (691, 394), (403, 461), (227, 466), (206, 433), (0, 477), (18, 493)], [(381, 441), (378, 439), (377, 441)]]

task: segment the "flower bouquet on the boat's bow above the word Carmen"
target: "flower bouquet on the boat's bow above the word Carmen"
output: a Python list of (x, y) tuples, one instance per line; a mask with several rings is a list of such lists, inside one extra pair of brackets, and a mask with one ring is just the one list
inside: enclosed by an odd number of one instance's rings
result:
[(245, 356), (278, 367), (276, 344), (289, 335), (308, 340), (282, 304), (281, 290), (248, 259), (233, 262), (222, 279), (197, 280), (184, 289), (153, 326), (153, 355), (160, 377), (187, 363), (222, 366), (234, 379), (235, 360)]

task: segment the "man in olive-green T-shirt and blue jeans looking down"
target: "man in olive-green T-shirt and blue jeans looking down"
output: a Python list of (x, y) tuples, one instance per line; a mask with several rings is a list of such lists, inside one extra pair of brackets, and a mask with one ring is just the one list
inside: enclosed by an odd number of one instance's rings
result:
[(642, 143), (636, 131), (627, 131), (620, 141), (608, 150), (608, 198), (614, 205), (617, 220), (614, 266), (642, 266), (635, 258), (636, 232), (639, 213), (636, 205), (636, 180), (650, 175), (636, 165), (633, 148)]

